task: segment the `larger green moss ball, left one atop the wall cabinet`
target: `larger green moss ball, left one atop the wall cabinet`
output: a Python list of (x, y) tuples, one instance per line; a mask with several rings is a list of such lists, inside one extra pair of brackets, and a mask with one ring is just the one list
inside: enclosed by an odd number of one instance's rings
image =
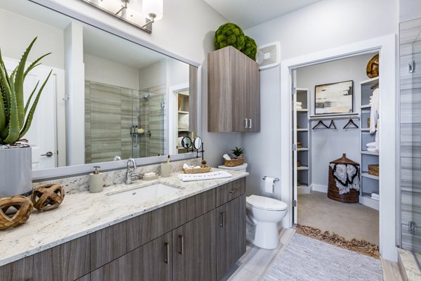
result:
[(215, 50), (226, 46), (233, 46), (241, 51), (245, 43), (243, 30), (241, 30), (238, 25), (234, 25), (234, 23), (231, 22), (221, 25), (215, 32), (215, 39), (213, 39)]

